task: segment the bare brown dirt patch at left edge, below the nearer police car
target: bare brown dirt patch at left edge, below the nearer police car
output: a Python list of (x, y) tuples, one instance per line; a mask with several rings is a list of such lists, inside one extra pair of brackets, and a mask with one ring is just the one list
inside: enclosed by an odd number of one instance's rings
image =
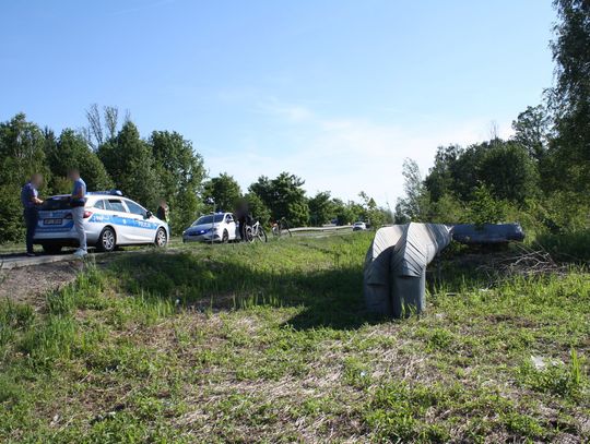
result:
[(0, 299), (40, 307), (48, 291), (71, 283), (83, 267), (81, 261), (69, 261), (0, 271)]

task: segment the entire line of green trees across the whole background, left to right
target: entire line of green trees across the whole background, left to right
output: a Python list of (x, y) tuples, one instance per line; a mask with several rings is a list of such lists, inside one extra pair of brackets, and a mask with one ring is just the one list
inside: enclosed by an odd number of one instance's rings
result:
[[(422, 177), (417, 165), (403, 165), (405, 197), (394, 220), (475, 224), (518, 220), (535, 231), (570, 232), (590, 224), (590, 2), (556, 0), (558, 21), (551, 47), (556, 84), (541, 105), (514, 121), (515, 135), (467, 147), (438, 148)], [(366, 193), (344, 202), (329, 191), (307, 196), (304, 180), (282, 172), (260, 177), (247, 190), (222, 173), (208, 178), (203, 158), (181, 134), (153, 131), (141, 137), (127, 113), (93, 105), (87, 127), (56, 135), (19, 113), (0, 123), (0, 242), (23, 237), (19, 191), (42, 172), (42, 194), (69, 192), (66, 172), (79, 168), (88, 190), (117, 188), (149, 208), (167, 200), (173, 232), (200, 213), (231, 211), (246, 200), (263, 224), (286, 218), (292, 225), (391, 221), (391, 212)]]

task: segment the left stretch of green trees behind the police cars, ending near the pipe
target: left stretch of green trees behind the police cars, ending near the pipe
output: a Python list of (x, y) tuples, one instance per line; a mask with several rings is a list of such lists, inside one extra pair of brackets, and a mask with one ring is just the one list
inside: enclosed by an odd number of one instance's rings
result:
[(173, 232), (200, 214), (233, 211), (246, 200), (262, 224), (285, 218), (293, 226), (350, 224), (356, 219), (381, 225), (389, 212), (361, 193), (362, 201), (343, 202), (329, 192), (308, 197), (299, 177), (282, 172), (260, 177), (246, 192), (227, 173), (208, 178), (202, 156), (175, 131), (153, 131), (141, 137), (135, 124), (116, 107), (92, 105), (87, 127), (57, 135), (17, 113), (0, 123), (0, 241), (22, 240), (20, 189), (34, 172), (43, 173), (42, 195), (69, 193), (70, 168), (78, 168), (88, 190), (118, 189), (148, 208), (164, 199), (170, 207)]

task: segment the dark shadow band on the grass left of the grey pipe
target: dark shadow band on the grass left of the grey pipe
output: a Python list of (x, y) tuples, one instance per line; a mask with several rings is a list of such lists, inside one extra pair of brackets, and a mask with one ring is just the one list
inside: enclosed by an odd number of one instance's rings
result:
[[(281, 267), (249, 262), (244, 256), (221, 261), (190, 253), (151, 253), (119, 257), (107, 273), (128, 293), (200, 311), (302, 307), (288, 321), (296, 329), (355, 329), (384, 321), (365, 309), (361, 264), (341, 264), (337, 259), (331, 266), (309, 268), (308, 264)], [(429, 276), (429, 287), (435, 289), (439, 275)], [(452, 287), (464, 284), (457, 279)]]

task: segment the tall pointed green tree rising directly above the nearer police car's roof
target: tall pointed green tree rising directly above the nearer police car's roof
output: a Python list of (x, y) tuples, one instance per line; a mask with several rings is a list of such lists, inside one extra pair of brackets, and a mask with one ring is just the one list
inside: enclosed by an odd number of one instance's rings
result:
[(132, 122), (127, 122), (114, 140), (101, 145), (97, 154), (125, 195), (151, 208), (157, 205), (162, 182), (154, 156)]

